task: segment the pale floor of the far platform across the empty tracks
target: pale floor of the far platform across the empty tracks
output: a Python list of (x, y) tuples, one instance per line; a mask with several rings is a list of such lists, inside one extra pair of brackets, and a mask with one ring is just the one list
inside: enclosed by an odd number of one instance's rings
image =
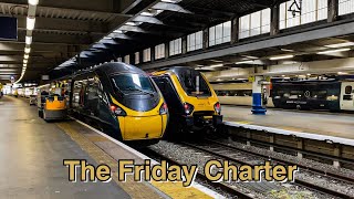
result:
[(252, 115), (251, 107), (222, 105), (222, 115), (228, 122), (354, 139), (354, 114), (269, 108), (261, 116)]

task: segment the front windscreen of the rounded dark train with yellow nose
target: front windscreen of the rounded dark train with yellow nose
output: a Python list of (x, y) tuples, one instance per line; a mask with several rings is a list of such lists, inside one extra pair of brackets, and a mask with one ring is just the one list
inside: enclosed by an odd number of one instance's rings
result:
[(150, 78), (143, 74), (118, 74), (112, 77), (113, 85), (123, 94), (152, 94), (155, 91)]

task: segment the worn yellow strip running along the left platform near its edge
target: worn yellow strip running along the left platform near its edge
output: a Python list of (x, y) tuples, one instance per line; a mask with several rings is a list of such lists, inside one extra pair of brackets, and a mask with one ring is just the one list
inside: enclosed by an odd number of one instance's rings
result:
[[(108, 139), (97, 138), (96, 136), (87, 138), (84, 135), (80, 134), (77, 130), (73, 129), (71, 125), (67, 123), (61, 123), (58, 124), (58, 126), (62, 128), (75, 143), (77, 143), (80, 147), (83, 150), (85, 150), (96, 163), (106, 164), (111, 168), (117, 168), (117, 161), (114, 158), (112, 158), (108, 154), (106, 154), (104, 150), (102, 150), (97, 145), (92, 143), (92, 140), (105, 142)], [(133, 176), (127, 176), (126, 182), (119, 181), (117, 174), (113, 175), (113, 179), (132, 198), (163, 198), (147, 185), (134, 181)], [(165, 195), (169, 196), (170, 198), (212, 198), (209, 195), (206, 195), (205, 192), (196, 188), (185, 188), (183, 187), (181, 182), (150, 181), (150, 184)]]

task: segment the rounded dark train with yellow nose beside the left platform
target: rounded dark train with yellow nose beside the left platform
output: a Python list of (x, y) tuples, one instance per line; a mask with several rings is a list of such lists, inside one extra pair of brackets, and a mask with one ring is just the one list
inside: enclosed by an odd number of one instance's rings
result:
[(118, 140), (143, 145), (157, 143), (168, 122), (167, 105), (154, 81), (125, 63), (75, 74), (70, 111)]

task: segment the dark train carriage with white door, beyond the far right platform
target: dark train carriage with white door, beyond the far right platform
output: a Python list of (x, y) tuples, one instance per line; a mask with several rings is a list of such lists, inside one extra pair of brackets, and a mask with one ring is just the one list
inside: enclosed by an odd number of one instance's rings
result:
[(354, 81), (321, 80), (274, 82), (275, 107), (298, 109), (354, 111)]

